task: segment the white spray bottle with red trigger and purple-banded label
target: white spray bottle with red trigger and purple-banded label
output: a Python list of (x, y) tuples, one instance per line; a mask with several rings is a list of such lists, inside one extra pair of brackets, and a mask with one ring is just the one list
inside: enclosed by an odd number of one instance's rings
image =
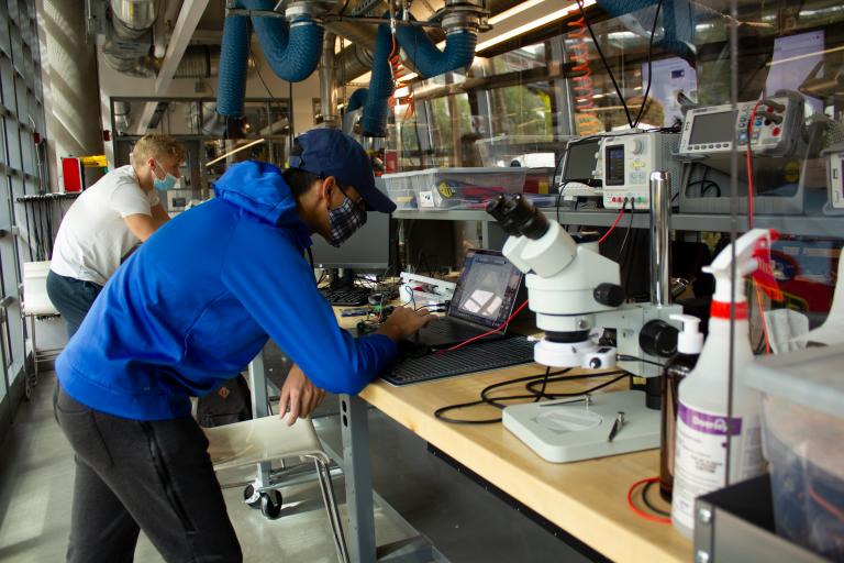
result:
[[(703, 268), (715, 277), (715, 295), (703, 350), (695, 369), (678, 389), (671, 499), (674, 526), (689, 538), (695, 527), (697, 497), (729, 483), (759, 475), (765, 470), (758, 396), (743, 380), (744, 367), (753, 358), (743, 278), (753, 274), (754, 280), (768, 295), (781, 299), (770, 268), (770, 243), (776, 238), (773, 230), (754, 229), (731, 245), (735, 246), (735, 286), (731, 278), (731, 246)], [(735, 320), (732, 334), (731, 314)], [(732, 389), (729, 388), (731, 347)], [(731, 393), (732, 412), (728, 412)]]

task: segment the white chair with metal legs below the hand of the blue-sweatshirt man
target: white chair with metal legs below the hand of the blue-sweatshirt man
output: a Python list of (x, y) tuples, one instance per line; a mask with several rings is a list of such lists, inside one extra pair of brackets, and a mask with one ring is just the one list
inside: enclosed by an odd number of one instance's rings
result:
[[(331, 460), (322, 451), (310, 419), (299, 419), (293, 426), (288, 427), (287, 422), (277, 416), (268, 416), (222, 427), (203, 428), (202, 431), (208, 437), (208, 454), (216, 472), (284, 457), (313, 461), (322, 490), (322, 500), (334, 534), (337, 559), (341, 563), (348, 563), (348, 551), (329, 471)], [(262, 510), (265, 515), (267, 505), (271, 503), (271, 498), (265, 493), (279, 486), (270, 485), (262, 490)]]

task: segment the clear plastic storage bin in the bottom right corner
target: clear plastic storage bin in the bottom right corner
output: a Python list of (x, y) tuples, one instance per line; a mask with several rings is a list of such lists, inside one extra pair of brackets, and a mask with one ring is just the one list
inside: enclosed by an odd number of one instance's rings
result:
[(751, 364), (777, 533), (844, 561), (844, 345)]

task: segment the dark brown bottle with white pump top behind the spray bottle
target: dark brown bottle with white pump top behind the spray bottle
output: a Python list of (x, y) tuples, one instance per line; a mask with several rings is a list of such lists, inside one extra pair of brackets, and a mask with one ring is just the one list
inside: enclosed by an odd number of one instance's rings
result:
[(677, 428), (677, 388), (698, 363), (703, 349), (703, 334), (700, 333), (700, 319), (691, 314), (671, 314), (671, 319), (682, 322), (682, 330), (677, 335), (677, 353), (665, 364), (663, 372), (663, 412), (659, 434), (659, 494), (665, 500), (671, 500), (674, 490), (675, 434)]

